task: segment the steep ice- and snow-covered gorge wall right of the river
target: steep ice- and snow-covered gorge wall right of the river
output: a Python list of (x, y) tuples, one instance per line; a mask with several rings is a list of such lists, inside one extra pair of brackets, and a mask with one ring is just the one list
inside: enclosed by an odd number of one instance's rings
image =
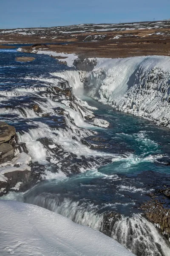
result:
[(170, 57), (99, 58), (84, 81), (92, 98), (170, 127)]

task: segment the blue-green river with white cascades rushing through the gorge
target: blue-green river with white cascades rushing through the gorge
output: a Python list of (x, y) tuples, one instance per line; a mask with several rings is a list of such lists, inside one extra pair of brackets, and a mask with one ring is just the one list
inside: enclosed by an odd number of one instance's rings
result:
[[(43, 164), (44, 181), (3, 198), (37, 204), (104, 233), (104, 213), (119, 213), (108, 235), (138, 256), (170, 255), (164, 239), (139, 211), (140, 204), (150, 200), (148, 193), (170, 185), (169, 129), (82, 95), (97, 108), (96, 117), (110, 126), (84, 122), (46, 90), (59, 81), (49, 73), (71, 68), (47, 55), (29, 54), (35, 61), (15, 61), (23, 55), (28, 54), (0, 50), (0, 120), (15, 126), (33, 163)], [(37, 116), (33, 104), (47, 114)], [(74, 125), (66, 119), (65, 126), (59, 107), (72, 115)], [(94, 148), (85, 145), (84, 137)], [(168, 199), (165, 206), (170, 207)]]

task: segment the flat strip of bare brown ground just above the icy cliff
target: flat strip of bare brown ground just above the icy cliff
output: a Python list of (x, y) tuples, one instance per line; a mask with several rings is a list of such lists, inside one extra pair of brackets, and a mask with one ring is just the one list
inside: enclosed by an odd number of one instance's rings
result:
[[(31, 47), (22, 47), (27, 52), (31, 52)], [(121, 39), (115, 44), (111, 44), (109, 41), (98, 41), (98, 42), (75, 42), (72, 44), (60, 44), (48, 45), (48, 49), (45, 47), (39, 47), (36, 49), (48, 50), (54, 52), (64, 53), (75, 53), (80, 58), (126, 58), (133, 56), (142, 55), (170, 55), (170, 39), (160, 40), (150, 38), (149, 40), (144, 39), (133, 39), (128, 38)], [(57, 57), (58, 58), (58, 57)]]

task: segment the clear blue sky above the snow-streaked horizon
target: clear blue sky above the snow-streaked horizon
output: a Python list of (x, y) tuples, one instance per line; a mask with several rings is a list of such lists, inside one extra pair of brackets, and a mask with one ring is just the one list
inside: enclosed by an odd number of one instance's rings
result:
[(170, 18), (170, 0), (0, 0), (0, 29)]

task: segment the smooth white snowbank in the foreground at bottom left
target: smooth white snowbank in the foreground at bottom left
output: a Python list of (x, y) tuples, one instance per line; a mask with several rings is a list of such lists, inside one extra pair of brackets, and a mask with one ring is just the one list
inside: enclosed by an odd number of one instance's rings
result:
[(99, 231), (47, 209), (0, 200), (1, 256), (133, 256)]

